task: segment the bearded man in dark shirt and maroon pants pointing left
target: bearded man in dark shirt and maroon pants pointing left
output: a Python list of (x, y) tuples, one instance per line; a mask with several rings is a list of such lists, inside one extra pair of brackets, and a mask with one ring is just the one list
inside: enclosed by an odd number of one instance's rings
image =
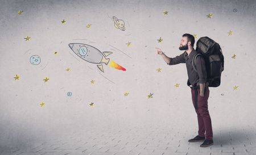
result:
[(204, 141), (200, 146), (207, 147), (213, 145), (212, 122), (208, 111), (209, 87), (207, 82), (207, 70), (205, 68), (204, 58), (201, 56), (196, 58), (195, 66), (197, 72), (193, 69), (192, 59), (193, 56), (197, 54), (193, 48), (194, 43), (195, 38), (192, 35), (185, 33), (181, 38), (179, 47), (181, 51), (185, 50), (185, 52), (174, 58), (167, 57), (161, 49), (156, 49), (158, 55), (162, 56), (168, 65), (176, 65), (180, 63), (186, 64), (188, 85), (191, 87), (192, 102), (196, 110), (199, 125), (198, 135), (188, 141)]

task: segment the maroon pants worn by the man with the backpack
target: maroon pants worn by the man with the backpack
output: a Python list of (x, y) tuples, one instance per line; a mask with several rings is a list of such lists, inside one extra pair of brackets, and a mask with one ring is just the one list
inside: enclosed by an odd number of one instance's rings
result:
[[(195, 104), (195, 91), (197, 91), (197, 106)], [(191, 89), (193, 105), (196, 107), (198, 134), (200, 137), (205, 137), (208, 140), (213, 139), (212, 121), (208, 111), (209, 87), (205, 87), (204, 97), (200, 96), (200, 89)]]

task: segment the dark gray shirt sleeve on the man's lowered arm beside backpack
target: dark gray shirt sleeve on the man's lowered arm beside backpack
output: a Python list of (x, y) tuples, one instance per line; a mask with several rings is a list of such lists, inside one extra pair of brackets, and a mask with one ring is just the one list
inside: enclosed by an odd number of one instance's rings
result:
[(196, 58), (196, 69), (199, 76), (199, 83), (207, 82), (207, 70), (202, 56)]

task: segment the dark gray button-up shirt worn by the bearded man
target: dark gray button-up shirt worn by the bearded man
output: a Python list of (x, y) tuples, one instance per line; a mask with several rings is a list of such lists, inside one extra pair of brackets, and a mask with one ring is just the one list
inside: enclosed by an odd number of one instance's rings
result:
[(192, 86), (196, 86), (198, 83), (206, 83), (207, 82), (207, 70), (205, 68), (204, 58), (199, 56), (196, 58), (196, 69), (197, 72), (193, 69), (192, 66), (192, 59), (193, 56), (196, 55), (195, 49), (191, 51), (191, 53), (184, 52), (179, 56), (171, 58), (171, 61), (168, 65), (176, 65), (180, 63), (185, 63), (187, 66), (188, 72), (188, 81), (191, 83)]

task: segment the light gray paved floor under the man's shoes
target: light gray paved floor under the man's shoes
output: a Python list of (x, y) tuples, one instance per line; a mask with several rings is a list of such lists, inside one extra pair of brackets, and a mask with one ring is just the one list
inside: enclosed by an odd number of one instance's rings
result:
[(256, 154), (254, 128), (214, 128), (214, 145), (200, 148), (201, 142), (188, 143), (196, 136), (196, 128), (152, 127), (92, 128), (72, 132), (50, 141), (30, 145), (26, 149), (1, 148), (1, 155), (166, 155), (166, 154)]

